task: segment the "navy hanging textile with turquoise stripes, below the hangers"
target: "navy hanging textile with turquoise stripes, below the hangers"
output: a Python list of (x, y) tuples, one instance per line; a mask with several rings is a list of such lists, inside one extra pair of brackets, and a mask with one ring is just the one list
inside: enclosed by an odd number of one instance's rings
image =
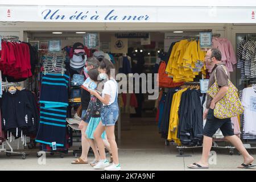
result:
[(69, 76), (42, 75), (40, 92), (40, 124), (36, 142), (65, 147)]

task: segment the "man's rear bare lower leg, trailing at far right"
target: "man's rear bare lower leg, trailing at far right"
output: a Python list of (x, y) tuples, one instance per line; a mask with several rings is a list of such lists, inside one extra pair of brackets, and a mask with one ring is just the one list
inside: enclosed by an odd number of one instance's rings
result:
[[(247, 150), (243, 146), (243, 143), (242, 143), (240, 138), (238, 138), (236, 135), (228, 136), (228, 137), (225, 137), (225, 138), (227, 140), (229, 140), (229, 142), (231, 142), (237, 148), (238, 151), (241, 152), (241, 154), (243, 156), (243, 163), (244, 164), (250, 164), (250, 163), (252, 163), (254, 161), (253, 156), (251, 156), (247, 152)], [(240, 167), (242, 167), (242, 166), (240, 166)]]

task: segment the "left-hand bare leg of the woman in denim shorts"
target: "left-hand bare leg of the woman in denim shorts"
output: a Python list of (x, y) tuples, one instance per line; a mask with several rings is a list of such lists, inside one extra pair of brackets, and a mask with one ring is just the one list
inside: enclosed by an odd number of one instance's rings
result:
[(100, 158), (101, 160), (105, 160), (106, 159), (106, 153), (105, 153), (105, 147), (104, 147), (104, 142), (101, 138), (102, 133), (105, 131), (105, 127), (102, 126), (102, 123), (100, 122), (94, 132), (94, 139), (97, 143), (98, 146), (98, 150), (100, 152)]

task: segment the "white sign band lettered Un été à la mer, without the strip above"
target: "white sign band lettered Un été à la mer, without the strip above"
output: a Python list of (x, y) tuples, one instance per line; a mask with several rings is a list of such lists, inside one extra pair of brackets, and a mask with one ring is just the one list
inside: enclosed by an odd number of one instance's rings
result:
[[(9, 11), (8, 11), (9, 10)], [(2, 22), (256, 23), (253, 7), (4, 6)], [(8, 13), (10, 12), (10, 13)], [(143, 27), (143, 26), (142, 26)]]

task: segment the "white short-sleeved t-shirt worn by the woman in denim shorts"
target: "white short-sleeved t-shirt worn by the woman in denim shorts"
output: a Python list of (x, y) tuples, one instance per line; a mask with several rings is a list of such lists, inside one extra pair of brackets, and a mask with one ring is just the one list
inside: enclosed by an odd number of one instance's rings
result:
[[(105, 94), (110, 95), (110, 101), (108, 105), (111, 105), (115, 101), (115, 96), (117, 94), (117, 82), (115, 80), (108, 80), (104, 84), (104, 89), (102, 90), (102, 97), (105, 96)], [(103, 104), (106, 106), (105, 104)]]

